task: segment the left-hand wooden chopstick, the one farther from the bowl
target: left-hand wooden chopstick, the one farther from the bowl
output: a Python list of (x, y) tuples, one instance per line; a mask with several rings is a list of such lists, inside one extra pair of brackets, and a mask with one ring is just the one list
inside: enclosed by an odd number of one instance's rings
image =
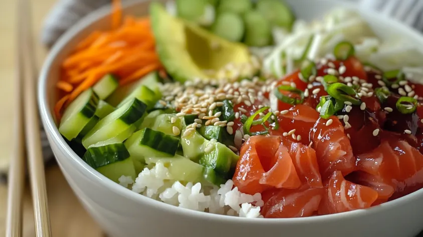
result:
[[(23, 39), (23, 21), (19, 14), (22, 8), (22, 1), (18, 1), (17, 5), (17, 40)], [(8, 209), (6, 216), (6, 237), (22, 236), (22, 197), (25, 184), (25, 146), (24, 146), (24, 123), (22, 111), (22, 77), (24, 65), (22, 45), (16, 46), (16, 72), (15, 72), (15, 123), (14, 123), (14, 140), (13, 155), (8, 175)]]

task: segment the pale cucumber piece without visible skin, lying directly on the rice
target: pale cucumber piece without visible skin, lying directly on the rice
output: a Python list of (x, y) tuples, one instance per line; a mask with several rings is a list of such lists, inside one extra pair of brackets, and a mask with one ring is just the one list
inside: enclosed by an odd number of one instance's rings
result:
[(171, 158), (146, 158), (146, 163), (163, 163), (169, 169), (172, 178), (186, 182), (200, 182), (203, 178), (204, 166), (194, 161), (175, 155)]

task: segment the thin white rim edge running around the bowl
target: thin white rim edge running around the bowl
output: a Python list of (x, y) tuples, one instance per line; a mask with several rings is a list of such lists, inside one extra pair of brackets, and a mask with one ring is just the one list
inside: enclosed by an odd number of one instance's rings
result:
[[(336, 0), (319, 0), (324, 2), (337, 2)], [(138, 4), (149, 2), (149, 0), (132, 0), (127, 1), (122, 4), (123, 11), (128, 9), (132, 6), (136, 6)], [(344, 8), (358, 10), (357, 6), (353, 3), (344, 2), (344, 3), (337, 3), (338, 5), (342, 5)], [(115, 192), (116, 194), (125, 196), (125, 198), (129, 198), (134, 202), (141, 204), (141, 205), (151, 205), (157, 208), (158, 210), (165, 211), (165, 212), (172, 212), (174, 214), (179, 215), (186, 215), (193, 218), (200, 218), (205, 219), (208, 221), (231, 221), (231, 222), (238, 222), (243, 224), (305, 224), (305, 223), (320, 223), (324, 221), (335, 221), (337, 219), (346, 219), (346, 218), (356, 218), (370, 214), (377, 214), (378, 212), (387, 211), (392, 208), (396, 208), (398, 206), (404, 205), (408, 202), (416, 201), (417, 199), (423, 197), (423, 189), (419, 189), (415, 192), (412, 192), (408, 195), (400, 197), (398, 199), (373, 206), (366, 209), (359, 209), (353, 211), (347, 211), (342, 213), (335, 213), (335, 214), (328, 214), (328, 215), (319, 215), (319, 216), (310, 216), (310, 217), (298, 217), (298, 218), (240, 218), (238, 216), (229, 216), (229, 215), (221, 215), (221, 214), (214, 214), (202, 211), (194, 211), (186, 208), (180, 208), (174, 205), (170, 205), (164, 203), (162, 201), (158, 201), (152, 199), (150, 197), (146, 197), (139, 193), (135, 193), (132, 190), (125, 188), (118, 183), (113, 182), (112, 180), (108, 179), (107, 177), (100, 174), (98, 171), (90, 167), (86, 164), (65, 142), (63, 137), (60, 135), (58, 131), (58, 127), (53, 118), (52, 111), (49, 108), (49, 103), (47, 99), (47, 79), (49, 72), (52, 68), (53, 62), (55, 61), (56, 57), (60, 54), (60, 52), (67, 47), (68, 43), (76, 37), (81, 31), (85, 28), (89, 27), (91, 24), (97, 22), (98, 20), (110, 15), (110, 5), (103, 6), (102, 8), (90, 13), (83, 19), (81, 19), (77, 24), (71, 27), (65, 34), (63, 34), (53, 48), (50, 50), (47, 58), (45, 59), (42, 70), (40, 71), (39, 75), (39, 82), (38, 82), (38, 106), (40, 111), (40, 116), (42, 118), (42, 122), (44, 125), (44, 129), (50, 135), (50, 142), (53, 142), (59, 149), (63, 151), (65, 156), (69, 158), (70, 162), (73, 166), (78, 168), (79, 172), (86, 173), (88, 178), (95, 179), (101, 186), (107, 187), (110, 191)], [(420, 35), (414, 29), (405, 26), (399, 22), (391, 20), (381, 14), (378, 13), (370, 13), (367, 10), (360, 10), (360, 14), (366, 15), (374, 15), (375, 18), (379, 18), (383, 21), (387, 21), (392, 28), (394, 29), (401, 29), (401, 31), (407, 31), (407, 35), (411, 35), (415, 40), (417, 39), (420, 43), (423, 43), (423, 35)], [(369, 15), (370, 16), (370, 15)], [(58, 159), (56, 157), (56, 159)]]

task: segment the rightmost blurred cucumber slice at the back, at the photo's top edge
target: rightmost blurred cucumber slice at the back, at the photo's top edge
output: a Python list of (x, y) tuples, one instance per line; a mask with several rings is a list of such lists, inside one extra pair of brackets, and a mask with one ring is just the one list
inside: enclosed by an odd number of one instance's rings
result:
[(256, 8), (271, 25), (291, 31), (295, 16), (283, 0), (258, 0)]

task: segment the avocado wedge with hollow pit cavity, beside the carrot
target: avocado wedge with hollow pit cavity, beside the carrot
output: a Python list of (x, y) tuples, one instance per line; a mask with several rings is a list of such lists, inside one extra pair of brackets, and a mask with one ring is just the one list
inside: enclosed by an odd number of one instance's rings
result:
[[(177, 81), (218, 78), (218, 71), (228, 64), (236, 68), (251, 62), (247, 46), (175, 18), (159, 3), (151, 3), (150, 14), (160, 60)], [(242, 76), (253, 76), (255, 72), (251, 73)]]

